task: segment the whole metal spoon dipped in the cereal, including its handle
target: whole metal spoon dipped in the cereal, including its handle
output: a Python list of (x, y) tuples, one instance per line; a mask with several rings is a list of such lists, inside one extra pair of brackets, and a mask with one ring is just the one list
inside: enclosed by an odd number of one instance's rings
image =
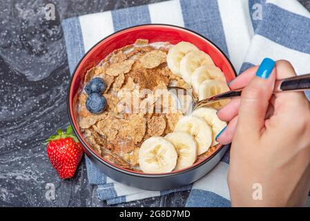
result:
[[(190, 95), (192, 101), (191, 105), (186, 110), (186, 113), (191, 113), (197, 108), (208, 106), (209, 104), (213, 104), (221, 99), (232, 99), (234, 97), (240, 97), (242, 93), (242, 88), (240, 88), (238, 90), (230, 90), (225, 93), (197, 101), (197, 99), (193, 96), (193, 93), (191, 93), (189, 90), (186, 90), (185, 88), (180, 88), (178, 86), (168, 86), (168, 90), (177, 97), (177, 108), (180, 107), (180, 96)], [(303, 90), (310, 90), (310, 74), (276, 80), (273, 93)]]

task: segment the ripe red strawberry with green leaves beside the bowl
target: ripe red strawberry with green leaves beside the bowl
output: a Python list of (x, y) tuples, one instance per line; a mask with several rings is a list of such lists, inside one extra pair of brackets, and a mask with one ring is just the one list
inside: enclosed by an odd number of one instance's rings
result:
[(81, 143), (72, 134), (72, 126), (68, 126), (66, 133), (57, 130), (46, 140), (48, 158), (61, 179), (71, 178), (75, 175), (77, 166), (83, 155)]

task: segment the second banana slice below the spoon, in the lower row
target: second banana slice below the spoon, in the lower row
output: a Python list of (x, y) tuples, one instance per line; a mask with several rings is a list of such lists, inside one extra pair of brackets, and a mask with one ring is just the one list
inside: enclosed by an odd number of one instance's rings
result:
[(174, 131), (185, 131), (192, 135), (198, 144), (198, 155), (208, 151), (211, 146), (211, 127), (201, 117), (182, 117), (175, 125)]

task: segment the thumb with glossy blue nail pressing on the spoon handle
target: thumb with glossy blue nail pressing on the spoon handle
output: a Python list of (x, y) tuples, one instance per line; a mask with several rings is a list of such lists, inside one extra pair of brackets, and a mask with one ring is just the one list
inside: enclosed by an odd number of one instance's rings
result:
[(243, 135), (259, 134), (264, 128), (269, 99), (275, 83), (274, 66), (275, 61), (265, 58), (255, 77), (242, 90), (238, 128), (242, 128)]

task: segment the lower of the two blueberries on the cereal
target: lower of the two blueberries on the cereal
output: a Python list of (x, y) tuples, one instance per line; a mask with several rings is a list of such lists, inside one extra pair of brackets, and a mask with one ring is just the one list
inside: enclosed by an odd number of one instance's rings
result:
[(86, 108), (90, 113), (102, 113), (106, 109), (106, 98), (100, 93), (91, 93), (86, 99)]

